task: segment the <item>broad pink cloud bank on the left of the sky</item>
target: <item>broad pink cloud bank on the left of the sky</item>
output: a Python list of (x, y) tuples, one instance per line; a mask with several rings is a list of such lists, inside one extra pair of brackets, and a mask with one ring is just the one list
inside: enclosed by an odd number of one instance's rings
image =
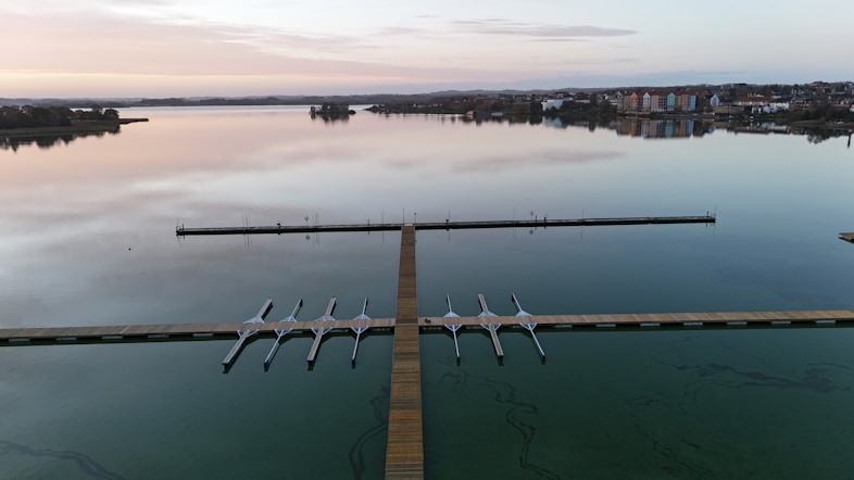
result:
[[(7, 73), (169, 76), (298, 77), (363, 76), (381, 80), (406, 75), (447, 77), (444, 67), (382, 64), (354, 58), (374, 48), (355, 37), (302, 35), (274, 28), (218, 23), (174, 25), (104, 12), (70, 12), (61, 20), (7, 13), (0, 42), (21, 45), (3, 55)], [(334, 53), (323, 58), (318, 53)]]

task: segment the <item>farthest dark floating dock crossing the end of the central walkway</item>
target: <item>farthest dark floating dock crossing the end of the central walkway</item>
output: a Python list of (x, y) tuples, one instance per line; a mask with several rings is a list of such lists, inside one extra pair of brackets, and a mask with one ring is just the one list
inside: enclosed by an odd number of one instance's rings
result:
[(411, 225), (416, 230), (455, 230), (477, 228), (549, 228), (549, 227), (585, 227), (604, 225), (668, 225), (668, 224), (714, 224), (715, 215), (701, 216), (651, 216), (651, 217), (614, 217), (614, 218), (573, 218), (573, 219), (516, 219), (486, 222), (423, 222), (417, 224), (347, 224), (347, 225), (269, 225), (258, 227), (211, 227), (175, 229), (178, 237), (198, 235), (262, 235), (262, 233), (323, 233), (334, 231), (397, 231)]

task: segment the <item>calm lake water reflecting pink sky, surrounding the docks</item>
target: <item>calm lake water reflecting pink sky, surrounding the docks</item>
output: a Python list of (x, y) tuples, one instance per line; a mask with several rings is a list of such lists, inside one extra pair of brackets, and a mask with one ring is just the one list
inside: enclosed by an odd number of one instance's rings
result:
[[(187, 227), (700, 215), (718, 224), (418, 233), (423, 315), (854, 308), (846, 138), (312, 121), (139, 110), (116, 135), (0, 150), (0, 327), (394, 312), (395, 233), (188, 238)], [(618, 127), (623, 128), (623, 127)], [(667, 132), (674, 132), (668, 136)], [(686, 131), (702, 136), (680, 137)], [(618, 135), (620, 132), (620, 135)], [(626, 134), (626, 135), (623, 135)], [(679, 135), (677, 135), (679, 134)], [(656, 137), (657, 139), (652, 139)], [(854, 329), (422, 336), (428, 478), (844, 478)], [(0, 349), (2, 478), (381, 478), (392, 337)]]

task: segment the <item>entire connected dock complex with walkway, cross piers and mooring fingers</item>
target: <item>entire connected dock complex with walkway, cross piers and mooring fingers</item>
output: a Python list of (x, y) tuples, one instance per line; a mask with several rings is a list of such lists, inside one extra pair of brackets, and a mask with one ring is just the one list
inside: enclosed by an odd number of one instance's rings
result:
[[(419, 317), (416, 288), (416, 230), (417, 229), (452, 229), (452, 228), (513, 228), (513, 227), (552, 227), (583, 225), (643, 225), (643, 224), (677, 224), (677, 223), (715, 223), (714, 216), (698, 217), (631, 217), (611, 219), (580, 220), (518, 220), (510, 223), (432, 223), (418, 225), (403, 224), (368, 224), (366, 226), (305, 226), (305, 227), (238, 227), (230, 229), (185, 229), (179, 227), (176, 233), (189, 235), (251, 235), (251, 233), (286, 233), (318, 231), (365, 231), (393, 230), (401, 231), (400, 264), (398, 275), (398, 294), (394, 318), (371, 318), (366, 314), (367, 299), (362, 305), (362, 314), (353, 319), (336, 319), (332, 312), (336, 298), (332, 296), (324, 315), (315, 320), (298, 320), (296, 316), (302, 300), (299, 300), (291, 314), (282, 320), (265, 323), (273, 300), (267, 299), (259, 313), (244, 323), (210, 323), (210, 324), (167, 324), (167, 325), (124, 325), (98, 327), (54, 327), (54, 328), (7, 328), (0, 329), (0, 345), (45, 345), (75, 344), (98, 342), (137, 342), (137, 341), (173, 341), (188, 339), (235, 338), (237, 341), (223, 361), (228, 368), (238, 359), (241, 351), (247, 348), (250, 338), (267, 337), (275, 340), (264, 359), (264, 368), (268, 368), (281, 339), (291, 332), (314, 334), (314, 342), (306, 357), (311, 366), (318, 354), (322, 339), (330, 332), (352, 332), (354, 337), (351, 363), (355, 366), (356, 353), (361, 336), (369, 328), (376, 330), (393, 329), (392, 365), (389, 399), (388, 441), (386, 451), (386, 478), (424, 478), (424, 444), (422, 422), (422, 390), (419, 333), (424, 330), (448, 329), (453, 337), (454, 353), (460, 361), (457, 334), (462, 329), (486, 330), (492, 343), (492, 350), (499, 361), (504, 357), (500, 342), (501, 331), (525, 331), (530, 334), (537, 354), (545, 362), (545, 352), (535, 328), (744, 328), (748, 326), (826, 326), (838, 323), (854, 325), (854, 311), (798, 311), (798, 312), (719, 312), (719, 313), (663, 313), (663, 314), (616, 314), (616, 315), (531, 315), (526, 312), (515, 293), (510, 293), (516, 315), (498, 316), (490, 312), (485, 295), (477, 300), (481, 313), (478, 316), (459, 316), (451, 306), (450, 295), (445, 296), (448, 313), (442, 317)], [(536, 225), (535, 225), (536, 224)], [(346, 228), (344, 228), (346, 227)], [(513, 330), (507, 330), (512, 328)], [(547, 345), (548, 346), (548, 345)], [(450, 354), (450, 350), (449, 350)]]

